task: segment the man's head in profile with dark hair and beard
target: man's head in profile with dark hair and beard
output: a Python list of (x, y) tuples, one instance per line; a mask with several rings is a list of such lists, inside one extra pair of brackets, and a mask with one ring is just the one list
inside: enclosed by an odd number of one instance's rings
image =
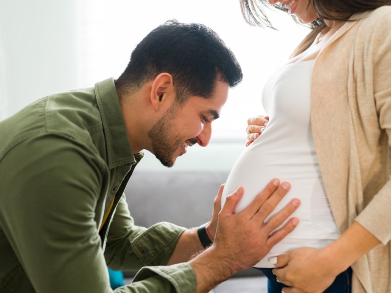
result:
[(213, 30), (167, 21), (136, 46), (115, 85), (121, 105), (136, 93), (150, 95), (150, 118), (158, 119), (144, 128), (150, 147), (142, 147), (171, 167), (186, 145), (209, 143), (210, 122), (241, 80), (238, 61)]

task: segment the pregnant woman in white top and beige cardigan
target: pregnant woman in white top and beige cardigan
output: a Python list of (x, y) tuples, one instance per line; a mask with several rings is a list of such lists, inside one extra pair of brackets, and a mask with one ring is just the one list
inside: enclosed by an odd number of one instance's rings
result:
[(270, 121), (249, 120), (224, 188), (223, 202), (243, 186), (237, 211), (273, 177), (291, 183), (275, 212), (301, 199), (297, 229), (255, 267), (269, 293), (391, 292), (391, 1), (240, 2), (249, 22), (270, 25), (271, 4), (313, 28), (266, 83)]

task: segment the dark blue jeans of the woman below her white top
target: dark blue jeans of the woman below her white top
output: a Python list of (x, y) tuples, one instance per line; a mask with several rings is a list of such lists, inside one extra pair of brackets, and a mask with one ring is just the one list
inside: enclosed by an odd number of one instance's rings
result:
[[(281, 293), (282, 288), (288, 287), (282, 283), (277, 282), (276, 276), (272, 273), (272, 269), (257, 269), (267, 277), (267, 292), (268, 293)], [(345, 272), (341, 272), (334, 280), (334, 282), (328, 287), (325, 293), (351, 293), (351, 268), (348, 268)]]

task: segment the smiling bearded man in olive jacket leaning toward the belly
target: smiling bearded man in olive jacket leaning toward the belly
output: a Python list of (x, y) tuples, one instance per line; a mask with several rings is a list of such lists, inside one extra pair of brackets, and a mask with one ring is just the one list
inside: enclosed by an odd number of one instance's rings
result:
[(242, 188), (219, 212), (220, 188), (211, 222), (189, 230), (135, 226), (123, 195), (141, 150), (171, 167), (186, 147), (207, 146), (241, 78), (216, 33), (169, 21), (117, 80), (43, 98), (1, 122), (0, 292), (112, 292), (106, 264), (144, 267), (115, 292), (207, 292), (261, 259), (297, 225), (269, 236), (293, 204), (264, 224), (286, 183), (274, 180), (238, 214)]

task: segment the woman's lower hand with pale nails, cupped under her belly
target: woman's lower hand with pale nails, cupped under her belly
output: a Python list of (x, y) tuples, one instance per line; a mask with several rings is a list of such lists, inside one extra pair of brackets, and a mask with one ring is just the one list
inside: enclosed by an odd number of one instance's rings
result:
[[(269, 260), (281, 269), (272, 272), (277, 280), (291, 288), (283, 288), (284, 293), (324, 292), (340, 273), (324, 250), (299, 248)], [(342, 271), (341, 271), (342, 272)]]

